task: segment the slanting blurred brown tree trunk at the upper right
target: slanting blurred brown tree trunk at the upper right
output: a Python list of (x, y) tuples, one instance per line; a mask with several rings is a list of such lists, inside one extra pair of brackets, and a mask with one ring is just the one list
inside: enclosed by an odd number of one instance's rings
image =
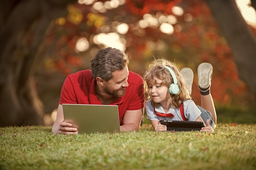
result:
[[(255, 8), (256, 1), (252, 1)], [(256, 38), (235, 0), (206, 0), (234, 55), (238, 75), (256, 97)]]

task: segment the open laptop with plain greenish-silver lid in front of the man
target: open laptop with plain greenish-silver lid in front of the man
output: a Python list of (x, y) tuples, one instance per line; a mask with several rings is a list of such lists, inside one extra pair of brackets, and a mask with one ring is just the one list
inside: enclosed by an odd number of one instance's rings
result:
[(118, 106), (62, 104), (64, 120), (78, 126), (78, 132), (120, 132)]

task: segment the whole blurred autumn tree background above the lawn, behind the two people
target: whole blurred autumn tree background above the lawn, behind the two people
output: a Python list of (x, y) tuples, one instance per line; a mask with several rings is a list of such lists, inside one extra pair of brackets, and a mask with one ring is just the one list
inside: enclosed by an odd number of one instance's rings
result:
[[(255, 0), (0, 1), (0, 126), (51, 126), (67, 75), (90, 69), (111, 46), (130, 71), (164, 57), (190, 67), (213, 65), (218, 119), (256, 123)], [(241, 119), (243, 119), (241, 121)]]

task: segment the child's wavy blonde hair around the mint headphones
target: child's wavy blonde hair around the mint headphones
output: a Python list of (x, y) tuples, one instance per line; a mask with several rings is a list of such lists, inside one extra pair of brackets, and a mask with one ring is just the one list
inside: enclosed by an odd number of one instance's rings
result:
[[(173, 84), (173, 77), (171, 76), (171, 73), (164, 67), (168, 66), (170, 67), (178, 81), (178, 86), (180, 88), (180, 91), (173, 95), (171, 93), (168, 93), (166, 96), (166, 99), (168, 99), (170, 107), (173, 108), (180, 108), (180, 105), (183, 103), (184, 100), (191, 99), (191, 96), (189, 95), (189, 92), (186, 89), (183, 76), (180, 73), (180, 69), (178, 66), (170, 62), (169, 60), (166, 60), (164, 58), (154, 60), (151, 64), (148, 64), (147, 71), (144, 74), (144, 82), (145, 82), (145, 90), (146, 93), (148, 93), (148, 84), (155, 84), (156, 80), (155, 77), (162, 80), (162, 86), (166, 86), (169, 90), (169, 87), (171, 84)], [(148, 95), (148, 99), (150, 99), (150, 96)], [(151, 100), (152, 106), (159, 107), (159, 103), (155, 103), (153, 100)]]

